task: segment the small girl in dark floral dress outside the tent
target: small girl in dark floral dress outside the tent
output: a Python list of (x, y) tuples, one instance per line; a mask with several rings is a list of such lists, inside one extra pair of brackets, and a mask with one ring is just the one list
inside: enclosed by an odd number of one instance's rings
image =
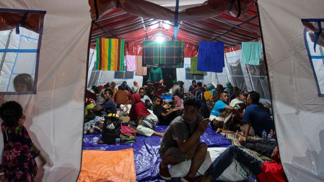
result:
[[(0, 107), (0, 117), (3, 120), (4, 182), (32, 182), (37, 174), (35, 158), (40, 151), (31, 141), (27, 129), (19, 124), (19, 121), (26, 119), (22, 107), (15, 101), (5, 102)], [(0, 169), (2, 167), (0, 165)]]

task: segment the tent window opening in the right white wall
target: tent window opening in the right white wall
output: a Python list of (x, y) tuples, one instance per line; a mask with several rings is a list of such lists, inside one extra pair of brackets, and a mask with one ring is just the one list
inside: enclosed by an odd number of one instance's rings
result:
[(318, 94), (324, 96), (324, 19), (302, 19), (302, 22), (305, 26), (304, 40)]

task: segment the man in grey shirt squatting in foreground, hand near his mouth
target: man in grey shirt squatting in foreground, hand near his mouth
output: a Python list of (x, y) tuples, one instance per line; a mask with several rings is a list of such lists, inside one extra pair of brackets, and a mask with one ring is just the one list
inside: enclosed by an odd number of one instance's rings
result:
[(175, 118), (164, 133), (159, 150), (162, 159), (159, 175), (164, 180), (171, 180), (168, 165), (191, 159), (189, 173), (181, 182), (194, 182), (207, 153), (207, 145), (200, 143), (200, 135), (206, 130), (209, 120), (201, 119), (200, 106), (200, 101), (193, 95), (187, 96), (183, 116)]

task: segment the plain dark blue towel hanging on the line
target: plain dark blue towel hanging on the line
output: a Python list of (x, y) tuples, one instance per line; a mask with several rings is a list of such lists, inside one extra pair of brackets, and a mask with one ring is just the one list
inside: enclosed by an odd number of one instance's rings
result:
[(224, 42), (199, 41), (197, 71), (222, 73), (224, 67)]

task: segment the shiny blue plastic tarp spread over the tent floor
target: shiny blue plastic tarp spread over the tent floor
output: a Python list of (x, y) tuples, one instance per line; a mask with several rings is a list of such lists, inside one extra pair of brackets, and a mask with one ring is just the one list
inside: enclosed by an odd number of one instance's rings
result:
[[(164, 133), (166, 128), (167, 126), (157, 126), (155, 131)], [(85, 135), (83, 137), (83, 150), (115, 151), (133, 148), (136, 182), (165, 182), (158, 176), (159, 164), (161, 162), (159, 156), (161, 137), (136, 136), (136, 143), (120, 144), (119, 146), (97, 144), (94, 142), (94, 137), (100, 138), (101, 134)], [(201, 135), (200, 140), (206, 143), (208, 147), (228, 147), (232, 144), (226, 137), (212, 130), (210, 126)], [(172, 179), (172, 182), (179, 182), (179, 179)]]

